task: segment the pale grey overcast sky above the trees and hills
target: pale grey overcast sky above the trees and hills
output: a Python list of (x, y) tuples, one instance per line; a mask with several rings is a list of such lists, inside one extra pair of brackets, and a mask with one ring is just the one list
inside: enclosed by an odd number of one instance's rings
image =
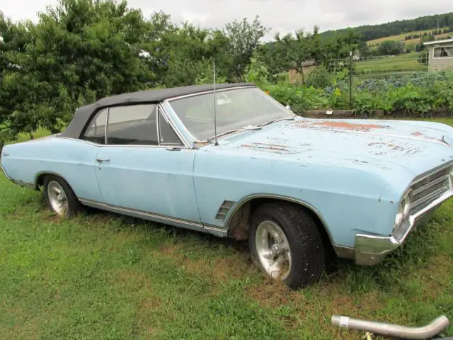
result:
[[(55, 0), (1, 0), (0, 10), (14, 21), (37, 20)], [(453, 0), (129, 0), (141, 8), (145, 17), (153, 11), (171, 14), (173, 21), (190, 21), (200, 26), (222, 28), (235, 18), (260, 16), (273, 33), (288, 33), (297, 28), (321, 30), (386, 23), (452, 11)]]

